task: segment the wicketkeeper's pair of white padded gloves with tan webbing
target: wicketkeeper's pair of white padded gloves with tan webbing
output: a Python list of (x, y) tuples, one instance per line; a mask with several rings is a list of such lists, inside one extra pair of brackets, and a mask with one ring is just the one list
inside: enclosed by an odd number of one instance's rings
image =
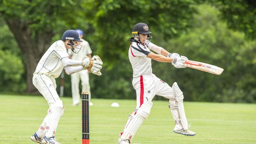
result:
[(85, 56), (82, 60), (83, 69), (91, 70), (93, 74), (98, 76), (102, 75), (100, 72), (102, 64), (103, 62), (98, 55), (94, 55), (91, 59), (88, 56)]

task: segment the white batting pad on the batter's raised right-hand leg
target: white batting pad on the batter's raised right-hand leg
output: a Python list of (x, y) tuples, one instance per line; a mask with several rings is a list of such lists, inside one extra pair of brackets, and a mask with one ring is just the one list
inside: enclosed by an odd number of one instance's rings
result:
[[(180, 88), (178, 87), (178, 84), (175, 82), (173, 83), (173, 90), (175, 93), (176, 98), (174, 98), (175, 104), (174, 102), (170, 102), (170, 109), (171, 110), (176, 110), (179, 116), (178, 122), (181, 120), (181, 124), (182, 127), (184, 128), (184, 130), (186, 131), (188, 128), (188, 124), (187, 124), (187, 118), (186, 118), (186, 114), (185, 114), (185, 109), (184, 109), (184, 105), (183, 105), (183, 93), (180, 90)], [(171, 101), (171, 100), (170, 100)], [(172, 111), (173, 113), (173, 111)], [(176, 114), (173, 114), (173, 117), (176, 117)], [(177, 121), (177, 119), (174, 118), (174, 120)]]

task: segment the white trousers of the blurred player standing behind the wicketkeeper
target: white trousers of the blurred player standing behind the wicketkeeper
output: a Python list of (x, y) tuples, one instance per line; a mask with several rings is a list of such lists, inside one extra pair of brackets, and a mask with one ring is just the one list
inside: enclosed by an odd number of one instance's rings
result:
[(71, 86), (72, 86), (72, 101), (73, 104), (80, 103), (80, 92), (79, 83), (81, 79), (82, 91), (87, 91), (89, 93), (89, 101), (91, 100), (91, 88), (89, 84), (89, 73), (88, 70), (82, 70), (71, 74)]

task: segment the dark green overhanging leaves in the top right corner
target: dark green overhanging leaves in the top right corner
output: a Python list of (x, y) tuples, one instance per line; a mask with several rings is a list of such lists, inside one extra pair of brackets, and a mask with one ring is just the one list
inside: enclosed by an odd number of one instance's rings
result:
[(210, 0), (222, 12), (228, 28), (243, 31), (247, 38), (256, 39), (255, 0)]

